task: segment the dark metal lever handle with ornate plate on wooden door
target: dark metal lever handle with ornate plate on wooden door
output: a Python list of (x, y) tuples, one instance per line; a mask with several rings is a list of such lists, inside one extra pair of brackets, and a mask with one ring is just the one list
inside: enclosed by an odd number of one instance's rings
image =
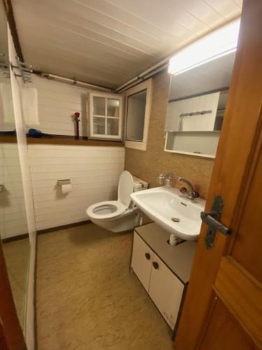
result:
[(220, 220), (223, 212), (224, 200), (221, 196), (214, 197), (210, 213), (201, 212), (201, 220), (208, 225), (208, 231), (205, 235), (205, 247), (212, 249), (214, 247), (214, 237), (219, 231), (223, 235), (231, 235), (231, 229), (226, 228)]

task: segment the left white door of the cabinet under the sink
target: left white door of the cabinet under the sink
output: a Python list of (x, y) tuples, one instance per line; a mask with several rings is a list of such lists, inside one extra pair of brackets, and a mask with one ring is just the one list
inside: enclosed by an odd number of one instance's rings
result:
[(133, 235), (133, 252), (131, 267), (138, 279), (148, 291), (154, 253), (135, 232)]

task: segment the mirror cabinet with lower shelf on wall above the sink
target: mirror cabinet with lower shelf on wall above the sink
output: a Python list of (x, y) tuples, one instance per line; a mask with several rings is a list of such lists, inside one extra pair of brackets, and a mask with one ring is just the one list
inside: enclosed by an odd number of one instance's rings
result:
[(214, 158), (235, 52), (170, 78), (165, 151)]

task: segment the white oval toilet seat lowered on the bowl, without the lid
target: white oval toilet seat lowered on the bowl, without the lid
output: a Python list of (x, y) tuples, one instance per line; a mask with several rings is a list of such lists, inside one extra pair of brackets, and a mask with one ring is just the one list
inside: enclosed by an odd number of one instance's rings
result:
[(118, 200), (99, 202), (87, 208), (87, 216), (94, 219), (115, 218), (123, 214), (128, 208)]

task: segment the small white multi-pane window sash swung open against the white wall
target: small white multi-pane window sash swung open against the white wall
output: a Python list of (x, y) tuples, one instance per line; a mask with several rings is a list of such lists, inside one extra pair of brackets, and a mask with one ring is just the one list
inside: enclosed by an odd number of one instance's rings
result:
[(91, 139), (121, 139), (122, 97), (90, 93), (89, 130)]

